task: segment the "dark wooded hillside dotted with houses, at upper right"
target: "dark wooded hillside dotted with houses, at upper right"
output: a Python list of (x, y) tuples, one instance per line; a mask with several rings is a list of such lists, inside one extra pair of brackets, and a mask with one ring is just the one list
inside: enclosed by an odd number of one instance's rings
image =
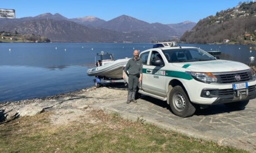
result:
[(256, 2), (243, 2), (232, 9), (208, 16), (185, 32), (180, 41), (185, 43), (254, 44), (256, 39)]

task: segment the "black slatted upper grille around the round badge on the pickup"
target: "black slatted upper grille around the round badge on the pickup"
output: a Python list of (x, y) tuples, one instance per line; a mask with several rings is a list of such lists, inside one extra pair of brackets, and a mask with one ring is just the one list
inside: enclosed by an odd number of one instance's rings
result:
[[(243, 70), (230, 73), (215, 73), (214, 75), (218, 78), (218, 83), (238, 83), (249, 81), (252, 79), (252, 73), (250, 70)], [(239, 81), (236, 80), (236, 75), (240, 76), (241, 79)]]

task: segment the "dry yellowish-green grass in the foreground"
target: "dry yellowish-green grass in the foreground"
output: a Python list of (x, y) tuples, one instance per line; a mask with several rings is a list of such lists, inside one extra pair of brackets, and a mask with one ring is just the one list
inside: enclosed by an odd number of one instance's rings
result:
[(44, 112), (1, 124), (0, 152), (245, 152), (100, 110), (69, 124), (53, 124), (52, 115)]

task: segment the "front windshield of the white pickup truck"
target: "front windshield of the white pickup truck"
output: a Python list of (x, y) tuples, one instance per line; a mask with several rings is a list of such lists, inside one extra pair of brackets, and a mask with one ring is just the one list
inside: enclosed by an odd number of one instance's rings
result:
[(216, 58), (209, 53), (197, 48), (169, 49), (163, 50), (163, 53), (169, 63), (216, 60)]

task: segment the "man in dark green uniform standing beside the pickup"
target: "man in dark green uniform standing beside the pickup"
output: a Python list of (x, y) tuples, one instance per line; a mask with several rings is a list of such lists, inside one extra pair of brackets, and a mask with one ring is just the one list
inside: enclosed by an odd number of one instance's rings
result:
[(126, 77), (127, 70), (129, 71), (127, 103), (130, 103), (130, 101), (137, 103), (135, 100), (135, 94), (138, 83), (142, 78), (142, 61), (138, 56), (138, 50), (133, 51), (133, 58), (131, 58), (126, 64), (123, 72), (123, 78)]

